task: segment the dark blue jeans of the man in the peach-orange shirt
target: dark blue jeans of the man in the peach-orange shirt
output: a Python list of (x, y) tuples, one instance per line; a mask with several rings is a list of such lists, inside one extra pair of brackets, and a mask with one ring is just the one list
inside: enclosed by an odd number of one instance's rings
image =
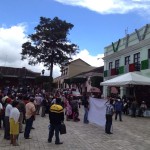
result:
[(33, 125), (34, 121), (34, 116), (30, 117), (29, 119), (26, 119), (26, 127), (25, 127), (25, 132), (24, 132), (24, 137), (29, 138), (30, 136), (30, 131)]

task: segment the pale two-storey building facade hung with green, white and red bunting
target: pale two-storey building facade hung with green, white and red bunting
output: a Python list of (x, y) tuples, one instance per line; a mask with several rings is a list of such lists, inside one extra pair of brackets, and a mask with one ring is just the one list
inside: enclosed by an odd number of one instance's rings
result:
[[(150, 77), (150, 24), (112, 42), (104, 51), (104, 81), (133, 71)], [(104, 97), (109, 94), (108, 90), (104, 86)], [(126, 88), (121, 87), (120, 96), (125, 93)]]

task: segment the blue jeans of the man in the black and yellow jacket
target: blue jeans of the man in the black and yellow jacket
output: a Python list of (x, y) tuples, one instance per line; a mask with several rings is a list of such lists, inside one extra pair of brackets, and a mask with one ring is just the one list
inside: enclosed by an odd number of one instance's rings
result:
[(60, 139), (59, 139), (60, 125), (61, 124), (57, 124), (57, 125), (51, 124), (50, 125), (49, 136), (48, 136), (49, 141), (52, 141), (52, 138), (54, 136), (54, 131), (55, 131), (55, 138), (56, 138), (55, 143), (60, 142)]

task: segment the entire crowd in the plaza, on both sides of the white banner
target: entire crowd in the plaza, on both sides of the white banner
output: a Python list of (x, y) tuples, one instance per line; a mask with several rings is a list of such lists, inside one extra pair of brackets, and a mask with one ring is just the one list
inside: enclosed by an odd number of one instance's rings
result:
[[(34, 91), (34, 92), (33, 92)], [(83, 123), (88, 124), (89, 96), (83, 93), (81, 97), (73, 96), (63, 90), (54, 93), (46, 93), (43, 89), (23, 90), (23, 88), (5, 87), (0, 90), (0, 128), (4, 130), (4, 139), (10, 140), (10, 144), (17, 146), (19, 134), (23, 133), (25, 139), (30, 139), (33, 122), (36, 115), (45, 117), (49, 115), (48, 142), (52, 142), (55, 132), (55, 144), (63, 144), (60, 141), (60, 127), (65, 121), (80, 121), (80, 105), (84, 107)], [(137, 113), (138, 108), (138, 113)], [(132, 117), (144, 116), (147, 106), (144, 101), (140, 106), (135, 99), (126, 97), (108, 97), (106, 102), (105, 132), (112, 134), (112, 116), (115, 120), (123, 121), (122, 113)], [(23, 124), (25, 127), (23, 128)]]

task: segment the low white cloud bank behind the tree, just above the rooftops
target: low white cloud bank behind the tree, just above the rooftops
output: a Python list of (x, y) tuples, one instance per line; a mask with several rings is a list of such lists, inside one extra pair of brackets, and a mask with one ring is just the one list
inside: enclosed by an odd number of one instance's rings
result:
[[(27, 41), (26, 35), (26, 26), (23, 24), (19, 24), (16, 26), (12, 26), (10, 28), (1, 27), (0, 28), (0, 66), (7, 67), (26, 67), (34, 72), (39, 72), (44, 69), (45, 75), (49, 75), (50, 72), (46, 68), (43, 67), (42, 64), (31, 66), (28, 65), (28, 61), (21, 60), (21, 51), (22, 44)], [(103, 54), (97, 56), (91, 56), (88, 50), (82, 50), (79, 54), (73, 57), (73, 59), (81, 58), (85, 62), (89, 63), (92, 66), (101, 66), (103, 65), (103, 61), (98, 58), (103, 57)], [(60, 75), (60, 68), (58, 66), (54, 66), (53, 76), (57, 77)]]

